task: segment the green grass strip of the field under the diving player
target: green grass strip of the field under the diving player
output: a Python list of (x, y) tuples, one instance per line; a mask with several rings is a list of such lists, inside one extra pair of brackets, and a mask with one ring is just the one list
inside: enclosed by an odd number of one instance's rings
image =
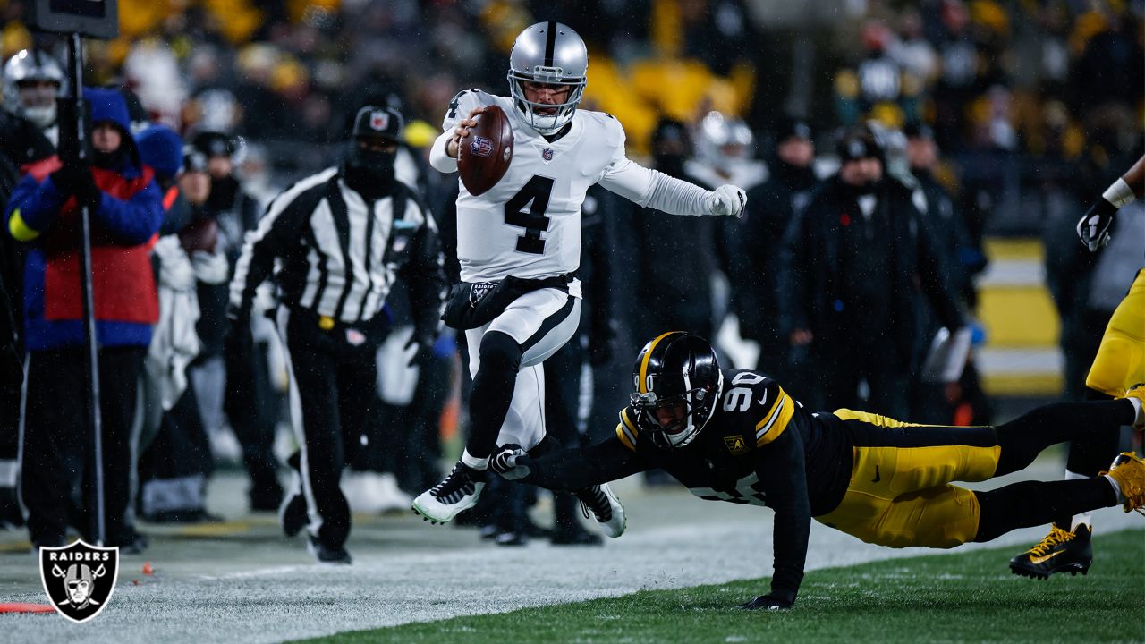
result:
[(1145, 642), (1145, 529), (1093, 545), (1088, 576), (1041, 582), (1010, 574), (1012, 548), (813, 571), (789, 613), (733, 607), (767, 590), (757, 579), (307, 642)]

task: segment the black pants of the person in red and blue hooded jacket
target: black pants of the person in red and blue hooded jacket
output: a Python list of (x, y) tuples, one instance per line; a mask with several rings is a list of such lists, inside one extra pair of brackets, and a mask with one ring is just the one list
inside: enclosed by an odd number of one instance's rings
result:
[[(125, 512), (131, 501), (132, 423), (144, 347), (100, 350), (100, 410), (103, 422), (105, 545), (128, 545), (135, 531)], [(29, 354), (21, 494), (27, 529), (37, 545), (62, 545), (69, 517), (95, 511), (94, 441), (87, 414), (89, 374), (86, 348)], [(71, 510), (78, 487), (84, 512)], [(77, 525), (95, 542), (93, 525)]]

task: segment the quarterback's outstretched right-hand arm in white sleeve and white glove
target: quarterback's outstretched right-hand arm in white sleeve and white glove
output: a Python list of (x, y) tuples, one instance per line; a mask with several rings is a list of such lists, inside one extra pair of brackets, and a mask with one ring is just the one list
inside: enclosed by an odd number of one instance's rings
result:
[(629, 158), (621, 158), (608, 166), (600, 184), (631, 202), (669, 214), (739, 217), (748, 203), (748, 195), (735, 186), (704, 190)]

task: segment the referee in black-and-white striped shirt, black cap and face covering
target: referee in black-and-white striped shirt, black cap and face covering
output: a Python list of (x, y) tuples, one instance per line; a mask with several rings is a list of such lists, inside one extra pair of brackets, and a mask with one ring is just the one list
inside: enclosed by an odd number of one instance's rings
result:
[(270, 203), (230, 284), (228, 351), (242, 351), (255, 289), (274, 273), (300, 445), (291, 457), (300, 485), (281, 518), (287, 536), (308, 526), (319, 563), (350, 563), (350, 513), (338, 484), (378, 405), (376, 354), (395, 280), (409, 286), (419, 354), (437, 332), (444, 294), (437, 228), (420, 197), (394, 178), (402, 125), (393, 109), (358, 111), (346, 162)]

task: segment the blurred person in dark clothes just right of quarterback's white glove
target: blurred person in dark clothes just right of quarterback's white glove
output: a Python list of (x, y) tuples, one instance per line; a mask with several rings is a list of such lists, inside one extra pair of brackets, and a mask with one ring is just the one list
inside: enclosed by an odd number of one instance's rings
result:
[(748, 190), (747, 212), (726, 228), (735, 269), (729, 272), (732, 301), (740, 319), (740, 335), (759, 343), (755, 367), (787, 380), (790, 344), (779, 327), (779, 257), (783, 233), (799, 217), (815, 187), (815, 143), (806, 121), (781, 119), (774, 129), (767, 181)]

